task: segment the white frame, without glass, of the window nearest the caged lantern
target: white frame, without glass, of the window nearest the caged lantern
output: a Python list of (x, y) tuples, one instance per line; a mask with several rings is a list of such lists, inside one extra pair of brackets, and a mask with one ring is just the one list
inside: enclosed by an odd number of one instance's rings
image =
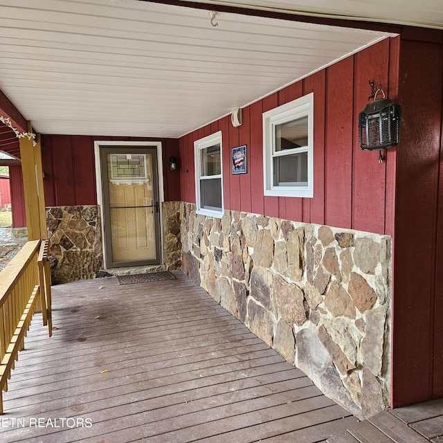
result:
[[(275, 150), (275, 127), (298, 118), (308, 118), (307, 146)], [(287, 183), (274, 186), (273, 159), (278, 156), (307, 152), (307, 185)], [(314, 197), (314, 93), (292, 100), (263, 113), (263, 182), (264, 195), (275, 197)]]

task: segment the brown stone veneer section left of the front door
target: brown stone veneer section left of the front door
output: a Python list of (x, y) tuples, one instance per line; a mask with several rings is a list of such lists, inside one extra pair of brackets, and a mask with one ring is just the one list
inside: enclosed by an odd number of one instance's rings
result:
[(46, 208), (53, 284), (95, 278), (102, 269), (100, 207)]

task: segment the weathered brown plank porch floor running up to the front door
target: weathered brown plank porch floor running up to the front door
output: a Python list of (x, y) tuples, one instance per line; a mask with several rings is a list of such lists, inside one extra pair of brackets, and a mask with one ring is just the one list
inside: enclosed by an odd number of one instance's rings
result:
[(4, 393), (12, 442), (324, 442), (357, 420), (177, 271), (53, 288)]

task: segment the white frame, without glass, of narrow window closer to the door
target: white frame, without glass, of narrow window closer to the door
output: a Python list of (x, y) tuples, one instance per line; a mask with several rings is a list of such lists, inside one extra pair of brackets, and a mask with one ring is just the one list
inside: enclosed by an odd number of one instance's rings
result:
[[(205, 177), (201, 175), (201, 150), (206, 147), (220, 145), (220, 174)], [(197, 202), (197, 214), (209, 215), (210, 217), (221, 218), (224, 213), (223, 199), (223, 149), (221, 146), (221, 131), (215, 132), (210, 136), (200, 138), (194, 142), (194, 163), (195, 163), (195, 201)], [(201, 208), (200, 181), (205, 179), (220, 179), (221, 183), (221, 210), (217, 208)]]

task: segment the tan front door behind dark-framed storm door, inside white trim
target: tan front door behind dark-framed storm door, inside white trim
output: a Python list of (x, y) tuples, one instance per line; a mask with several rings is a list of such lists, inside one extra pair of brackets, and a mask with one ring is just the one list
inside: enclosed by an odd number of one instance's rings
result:
[(107, 267), (160, 263), (156, 147), (105, 147), (100, 161)]

